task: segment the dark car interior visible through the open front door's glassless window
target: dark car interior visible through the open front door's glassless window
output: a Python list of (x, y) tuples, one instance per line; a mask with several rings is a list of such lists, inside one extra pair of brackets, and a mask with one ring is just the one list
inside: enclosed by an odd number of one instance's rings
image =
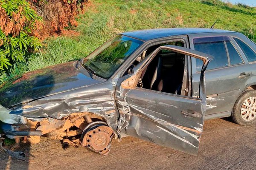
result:
[[(168, 42), (149, 47), (128, 69), (128, 74), (139, 62), (148, 57), (151, 52), (163, 45), (178, 45), (184, 47), (183, 42)], [(161, 91), (170, 94), (181, 94), (185, 69), (185, 55), (161, 50), (143, 70), (137, 87)]]

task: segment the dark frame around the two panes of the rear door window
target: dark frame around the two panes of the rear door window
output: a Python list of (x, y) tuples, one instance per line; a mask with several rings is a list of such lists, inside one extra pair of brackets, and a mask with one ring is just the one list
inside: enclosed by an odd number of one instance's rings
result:
[[(193, 38), (192, 38), (192, 43), (193, 43), (193, 48), (194, 48), (194, 50), (195, 50), (194, 39), (197, 39), (197, 38), (206, 38), (206, 37), (229, 37), (229, 39), (230, 39), (229, 41), (231, 42), (231, 44), (232, 44), (233, 47), (235, 48), (236, 52), (239, 54), (239, 56), (240, 56), (240, 58), (241, 58), (241, 60), (242, 60), (242, 63), (238, 63), (238, 64), (231, 65), (231, 63), (230, 63), (230, 55), (229, 55), (229, 51), (228, 51), (228, 48), (227, 48), (227, 43), (226, 43), (225, 40), (223, 40), (223, 41), (219, 41), (219, 42), (224, 42), (224, 46), (225, 46), (225, 50), (226, 50), (226, 54), (227, 54), (228, 65), (227, 65), (227, 66), (224, 66), (224, 67), (219, 67), (219, 68), (213, 68), (213, 69), (210, 69), (210, 70), (206, 70), (205, 72), (208, 72), (208, 71), (215, 71), (215, 70), (220, 70), (220, 69), (224, 69), (224, 68), (229, 68), (229, 67), (234, 67), (234, 66), (237, 66), (237, 65), (243, 65), (243, 64), (245, 64), (243, 57), (241, 56), (239, 50), (237, 49), (237, 45), (238, 45), (238, 44), (236, 43), (236, 45), (235, 45), (234, 42), (236, 42), (236, 41), (233, 39), (233, 37), (230, 37), (230, 36), (228, 36), (228, 35), (214, 35), (214, 36), (202, 36), (202, 37), (201, 37), (201, 36), (198, 36), (198, 37), (193, 37)], [(234, 41), (234, 42), (233, 42), (233, 41)], [(239, 45), (238, 45), (238, 47), (239, 47)], [(239, 48), (240, 48), (240, 47), (239, 47)], [(241, 48), (240, 48), (240, 49), (241, 49)], [(254, 62), (256, 62), (256, 61), (254, 61)], [(200, 73), (200, 71), (197, 70), (196, 61), (195, 61), (195, 71), (196, 71), (197, 74)]]

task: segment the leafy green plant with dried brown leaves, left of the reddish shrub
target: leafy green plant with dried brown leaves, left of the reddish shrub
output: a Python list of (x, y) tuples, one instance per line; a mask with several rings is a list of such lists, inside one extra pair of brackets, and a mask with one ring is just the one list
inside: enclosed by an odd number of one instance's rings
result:
[(0, 0), (0, 70), (25, 62), (27, 54), (41, 47), (41, 25), (42, 18), (26, 0)]

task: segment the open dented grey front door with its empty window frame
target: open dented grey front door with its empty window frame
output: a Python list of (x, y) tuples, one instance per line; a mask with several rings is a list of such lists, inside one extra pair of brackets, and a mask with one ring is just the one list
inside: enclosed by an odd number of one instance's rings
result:
[[(195, 57), (204, 62), (200, 89), (198, 89), (200, 96), (167, 93), (163, 88), (159, 88), (161, 82), (157, 85), (158, 90), (141, 87), (141, 79), (150, 68), (150, 63), (155, 62), (154, 57), (163, 50)], [(157, 48), (134, 68), (132, 75), (121, 77), (117, 83), (116, 103), (119, 109), (117, 131), (197, 155), (206, 110), (204, 71), (211, 58), (208, 54), (178, 46), (167, 45)], [(169, 74), (167, 78), (174, 84), (176, 79), (171, 75)]]

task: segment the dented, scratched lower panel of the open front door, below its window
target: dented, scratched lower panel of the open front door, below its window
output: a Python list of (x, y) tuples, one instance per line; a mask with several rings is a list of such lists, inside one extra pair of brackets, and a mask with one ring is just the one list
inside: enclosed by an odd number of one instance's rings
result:
[(204, 115), (193, 118), (181, 112), (202, 113), (200, 99), (134, 89), (126, 94), (126, 100), (131, 116), (129, 125), (124, 129), (126, 134), (197, 154)]

